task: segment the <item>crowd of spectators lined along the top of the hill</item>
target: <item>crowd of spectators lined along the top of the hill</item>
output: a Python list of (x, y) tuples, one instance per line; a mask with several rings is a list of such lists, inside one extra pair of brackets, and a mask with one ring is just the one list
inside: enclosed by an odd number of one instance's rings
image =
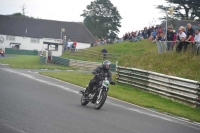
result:
[(163, 29), (163, 27), (159, 25), (148, 28), (144, 27), (143, 30), (127, 32), (119, 39), (98, 39), (94, 44), (91, 44), (91, 46), (112, 44), (126, 40), (136, 42), (142, 39), (152, 40), (152, 43), (164, 42), (165, 51), (173, 51), (175, 44), (177, 44), (177, 52), (182, 51), (183, 48), (184, 51), (186, 51), (188, 44), (200, 47), (199, 29), (196, 29), (195, 31), (190, 23), (187, 24), (186, 28), (181, 26), (178, 31), (175, 31), (172, 26), (168, 26), (167, 29)]

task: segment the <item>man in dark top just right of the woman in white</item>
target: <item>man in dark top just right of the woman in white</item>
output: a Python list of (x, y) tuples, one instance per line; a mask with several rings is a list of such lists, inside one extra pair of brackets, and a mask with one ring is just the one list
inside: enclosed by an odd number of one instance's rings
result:
[(192, 28), (192, 25), (190, 23), (187, 24), (187, 28), (188, 28), (188, 31), (187, 31), (187, 37), (185, 39), (185, 41), (187, 43), (185, 43), (185, 51), (187, 50), (187, 45), (190, 44), (190, 42), (194, 42), (194, 29)]

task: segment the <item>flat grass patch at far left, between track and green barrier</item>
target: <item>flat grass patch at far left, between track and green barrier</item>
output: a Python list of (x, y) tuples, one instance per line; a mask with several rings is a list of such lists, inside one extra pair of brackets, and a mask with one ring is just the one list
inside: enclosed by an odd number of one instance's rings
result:
[(70, 67), (58, 66), (53, 64), (40, 64), (39, 56), (31, 55), (10, 55), (12, 58), (0, 58), (0, 63), (9, 64), (12, 68), (24, 69), (72, 69)]

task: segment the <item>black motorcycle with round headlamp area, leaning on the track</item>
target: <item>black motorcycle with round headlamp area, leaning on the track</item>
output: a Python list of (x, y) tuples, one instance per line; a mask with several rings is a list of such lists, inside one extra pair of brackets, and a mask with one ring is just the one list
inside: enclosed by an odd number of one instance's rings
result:
[(94, 108), (99, 110), (107, 99), (107, 92), (109, 90), (109, 80), (105, 74), (104, 78), (101, 79), (98, 85), (94, 86), (90, 93), (86, 96), (85, 93), (88, 91), (81, 90), (79, 93), (82, 94), (81, 105), (86, 106), (89, 102), (94, 104)]

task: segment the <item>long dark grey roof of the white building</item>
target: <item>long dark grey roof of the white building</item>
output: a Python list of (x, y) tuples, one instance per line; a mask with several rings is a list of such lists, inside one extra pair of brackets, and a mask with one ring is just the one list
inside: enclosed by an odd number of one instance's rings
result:
[(95, 42), (92, 33), (82, 23), (0, 15), (0, 34), (4, 35), (60, 39), (61, 28), (65, 28), (62, 35), (67, 39)]

